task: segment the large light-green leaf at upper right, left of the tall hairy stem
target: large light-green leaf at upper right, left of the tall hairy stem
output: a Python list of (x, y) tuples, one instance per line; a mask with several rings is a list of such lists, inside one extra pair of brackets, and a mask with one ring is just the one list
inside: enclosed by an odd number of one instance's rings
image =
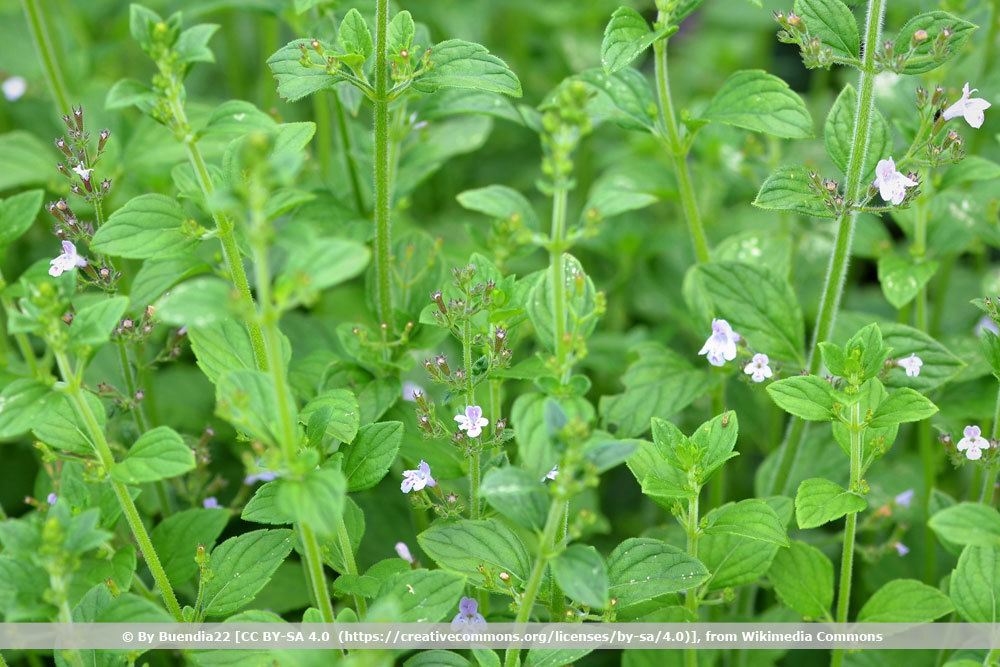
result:
[(802, 99), (763, 70), (743, 70), (726, 79), (701, 118), (786, 139), (813, 136), (812, 117)]

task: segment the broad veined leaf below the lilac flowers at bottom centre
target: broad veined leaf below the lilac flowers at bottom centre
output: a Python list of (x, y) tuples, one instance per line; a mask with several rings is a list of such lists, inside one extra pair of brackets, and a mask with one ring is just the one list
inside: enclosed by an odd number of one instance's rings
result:
[(501, 572), (508, 573), (515, 586), (527, 581), (528, 549), (517, 533), (496, 519), (438, 523), (420, 533), (417, 541), (439, 567), (464, 574), (476, 586), (499, 587)]

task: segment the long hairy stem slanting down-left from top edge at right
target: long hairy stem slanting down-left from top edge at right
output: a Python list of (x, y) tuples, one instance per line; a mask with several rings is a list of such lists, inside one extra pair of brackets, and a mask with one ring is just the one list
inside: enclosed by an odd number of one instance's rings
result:
[[(858, 81), (858, 106), (854, 121), (854, 137), (851, 141), (851, 153), (847, 161), (847, 173), (844, 186), (845, 198), (855, 202), (863, 191), (865, 159), (868, 155), (868, 144), (871, 138), (872, 117), (875, 111), (875, 48), (882, 37), (882, 17), (885, 15), (889, 0), (868, 0), (868, 14), (865, 19), (865, 49), (861, 63), (861, 75)], [(823, 295), (820, 299), (819, 315), (816, 318), (816, 329), (813, 332), (812, 347), (809, 352), (809, 373), (815, 375), (822, 365), (818, 352), (819, 344), (830, 339), (833, 333), (834, 320), (840, 307), (840, 298), (844, 292), (844, 280), (847, 278), (847, 268), (850, 263), (851, 240), (854, 238), (854, 225), (857, 213), (846, 211), (837, 221), (837, 236), (834, 241), (833, 254), (830, 256), (830, 266), (826, 272), (823, 284)], [(785, 493), (788, 475), (791, 473), (798, 455), (799, 447), (805, 436), (806, 424), (792, 418), (782, 444), (778, 471), (771, 484), (770, 494)]]

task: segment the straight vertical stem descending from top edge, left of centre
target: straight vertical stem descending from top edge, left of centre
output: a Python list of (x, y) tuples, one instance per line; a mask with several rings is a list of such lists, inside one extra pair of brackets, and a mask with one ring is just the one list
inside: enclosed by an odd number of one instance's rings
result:
[(389, 181), (389, 0), (375, 2), (375, 295), (379, 323), (392, 326), (392, 255)]

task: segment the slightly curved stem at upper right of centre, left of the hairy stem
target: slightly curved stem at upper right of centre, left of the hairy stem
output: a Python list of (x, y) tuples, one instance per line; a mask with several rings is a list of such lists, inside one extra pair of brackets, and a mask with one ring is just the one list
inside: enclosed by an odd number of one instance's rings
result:
[[(660, 14), (660, 21), (666, 20)], [(698, 199), (695, 196), (694, 185), (691, 182), (691, 169), (687, 163), (688, 149), (684, 145), (680, 129), (677, 125), (677, 115), (670, 95), (670, 78), (667, 68), (667, 40), (661, 39), (653, 45), (656, 65), (656, 97), (660, 117), (660, 125), (667, 133), (668, 148), (674, 163), (674, 174), (677, 177), (677, 190), (681, 198), (681, 208), (687, 220), (688, 234), (694, 245), (694, 255), (698, 263), (709, 261), (708, 239), (705, 237), (705, 227), (698, 212)]]

